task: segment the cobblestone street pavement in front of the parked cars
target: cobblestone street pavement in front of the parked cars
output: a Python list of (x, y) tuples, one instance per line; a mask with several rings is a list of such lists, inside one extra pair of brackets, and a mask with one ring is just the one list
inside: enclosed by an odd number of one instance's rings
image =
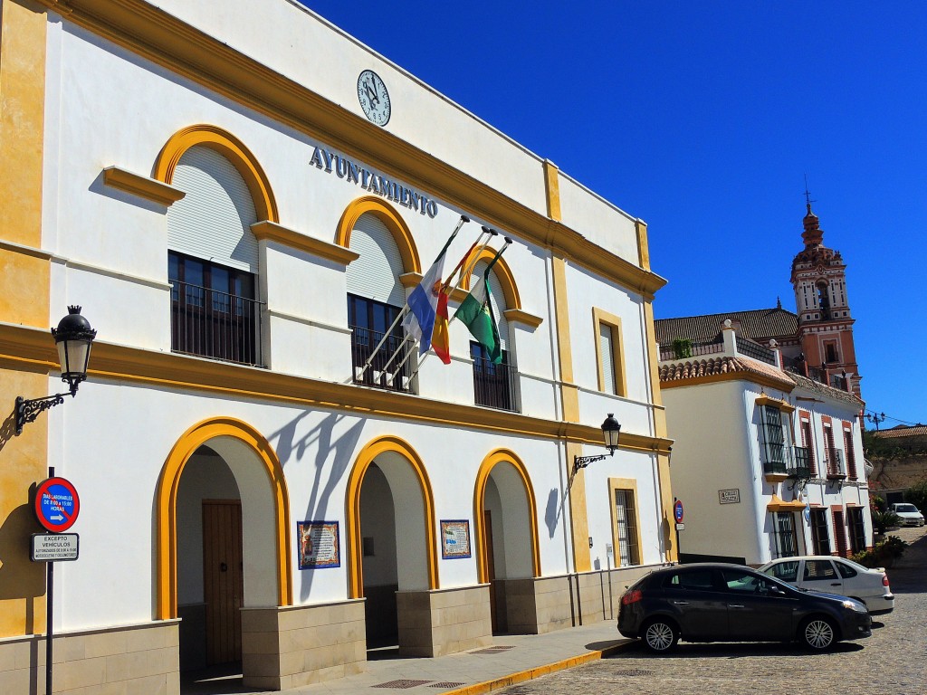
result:
[(808, 654), (797, 645), (692, 644), (651, 656), (634, 644), (616, 656), (497, 692), (505, 695), (922, 695), (927, 691), (927, 528), (893, 532), (911, 545), (888, 570), (895, 611), (872, 637)]

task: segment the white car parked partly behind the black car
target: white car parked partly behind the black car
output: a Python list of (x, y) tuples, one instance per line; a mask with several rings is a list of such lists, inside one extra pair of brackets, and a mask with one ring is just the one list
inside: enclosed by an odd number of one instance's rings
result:
[(767, 562), (759, 571), (797, 588), (860, 600), (873, 615), (895, 610), (895, 595), (882, 568), (871, 570), (852, 560), (830, 555), (806, 555)]

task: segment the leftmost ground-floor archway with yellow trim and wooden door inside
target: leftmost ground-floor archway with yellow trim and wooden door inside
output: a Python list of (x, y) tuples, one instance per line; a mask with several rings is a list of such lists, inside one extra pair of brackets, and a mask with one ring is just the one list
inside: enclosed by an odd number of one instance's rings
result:
[(182, 667), (241, 661), (241, 610), (292, 603), (288, 505), (280, 462), (247, 423), (197, 423), (171, 449), (156, 498), (155, 617), (183, 618)]

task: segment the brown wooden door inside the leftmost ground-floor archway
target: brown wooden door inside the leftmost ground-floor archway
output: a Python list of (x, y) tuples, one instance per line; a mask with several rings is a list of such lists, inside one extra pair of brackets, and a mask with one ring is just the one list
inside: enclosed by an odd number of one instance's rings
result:
[(203, 598), (206, 663), (241, 661), (241, 502), (203, 500)]

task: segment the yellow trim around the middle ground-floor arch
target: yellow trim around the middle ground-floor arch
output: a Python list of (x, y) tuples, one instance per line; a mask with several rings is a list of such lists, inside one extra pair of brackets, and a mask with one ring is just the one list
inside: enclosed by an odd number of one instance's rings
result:
[(347, 521), (346, 548), (348, 554), (348, 598), (363, 598), (363, 572), (361, 558), (363, 554), (361, 538), (361, 484), (363, 476), (370, 468), (377, 456), (393, 451), (402, 456), (412, 465), (414, 473), (418, 476), (422, 499), (425, 502), (425, 549), (428, 563), (428, 588), (438, 588), (438, 555), (436, 540), (438, 534), (435, 530), (435, 496), (432, 493), (431, 481), (425, 471), (425, 464), (415, 449), (398, 436), (379, 436), (369, 442), (354, 461), (348, 479), (348, 491), (345, 496), (345, 519)]

